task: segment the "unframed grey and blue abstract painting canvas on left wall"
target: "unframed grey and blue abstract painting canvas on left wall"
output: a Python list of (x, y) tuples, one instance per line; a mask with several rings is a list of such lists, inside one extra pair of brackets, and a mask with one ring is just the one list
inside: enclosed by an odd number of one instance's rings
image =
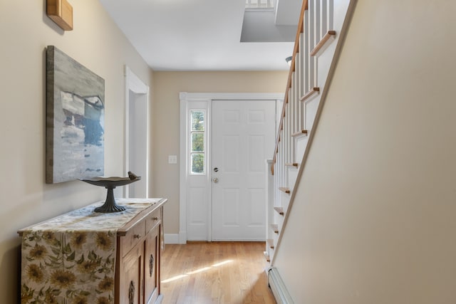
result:
[(105, 80), (46, 50), (46, 183), (104, 174)]

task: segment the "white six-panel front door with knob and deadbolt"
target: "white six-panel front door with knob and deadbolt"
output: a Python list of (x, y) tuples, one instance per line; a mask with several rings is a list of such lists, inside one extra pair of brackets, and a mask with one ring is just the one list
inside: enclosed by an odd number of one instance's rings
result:
[(266, 159), (275, 100), (212, 101), (212, 240), (266, 239)]

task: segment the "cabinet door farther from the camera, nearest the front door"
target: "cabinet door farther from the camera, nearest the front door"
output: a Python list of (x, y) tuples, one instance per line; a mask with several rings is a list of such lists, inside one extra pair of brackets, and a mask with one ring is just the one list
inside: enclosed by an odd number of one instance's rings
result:
[(159, 293), (160, 227), (150, 230), (145, 240), (145, 303), (155, 303)]

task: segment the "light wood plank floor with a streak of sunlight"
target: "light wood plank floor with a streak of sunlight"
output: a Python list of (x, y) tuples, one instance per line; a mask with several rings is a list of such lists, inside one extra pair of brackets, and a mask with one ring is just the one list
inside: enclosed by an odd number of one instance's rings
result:
[(163, 304), (276, 303), (267, 284), (263, 242), (167, 244)]

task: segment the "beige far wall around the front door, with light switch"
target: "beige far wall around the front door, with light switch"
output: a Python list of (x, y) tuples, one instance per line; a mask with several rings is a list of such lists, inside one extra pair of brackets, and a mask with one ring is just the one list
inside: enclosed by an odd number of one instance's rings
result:
[[(279, 93), (288, 72), (155, 72), (152, 110), (152, 196), (169, 199), (165, 206), (165, 234), (179, 233), (179, 164), (168, 164), (168, 155), (179, 155), (180, 92)], [(177, 157), (179, 159), (179, 157)]]

